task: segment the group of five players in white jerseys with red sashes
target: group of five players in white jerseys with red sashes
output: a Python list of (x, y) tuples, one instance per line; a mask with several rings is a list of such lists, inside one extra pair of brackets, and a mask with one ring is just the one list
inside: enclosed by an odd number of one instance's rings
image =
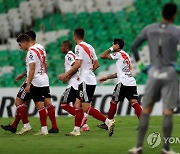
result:
[[(96, 76), (94, 71), (99, 67), (95, 49), (84, 42), (85, 31), (83, 28), (74, 30), (74, 41), (76, 43), (75, 53), (72, 52), (72, 43), (65, 40), (61, 44), (61, 51), (65, 53), (65, 72), (59, 75), (59, 79), (68, 83), (61, 98), (61, 107), (74, 116), (74, 128), (67, 136), (79, 136), (81, 131), (89, 131), (87, 124), (88, 115), (102, 121), (98, 127), (108, 130), (109, 136), (114, 132), (117, 104), (125, 98), (129, 100), (135, 113), (139, 118), (141, 107), (138, 103), (136, 81), (132, 76), (132, 66), (129, 55), (123, 51), (124, 41), (114, 39), (113, 46), (101, 54), (103, 59), (113, 59), (116, 61), (115, 74), (102, 77), (99, 82), (108, 79), (118, 78), (118, 83), (114, 89), (110, 102), (108, 116), (106, 117), (97, 109), (91, 107), (94, 91), (96, 88)], [(16, 80), (24, 80), (16, 97), (16, 116), (12, 124), (1, 125), (1, 128), (18, 135), (22, 135), (32, 130), (28, 120), (26, 104), (32, 99), (39, 112), (41, 130), (35, 135), (47, 135), (48, 133), (58, 133), (55, 118), (55, 110), (51, 102), (49, 89), (49, 78), (47, 73), (46, 51), (44, 47), (36, 42), (36, 34), (30, 30), (17, 37), (17, 43), (26, 54), (26, 71), (16, 77)], [(112, 52), (112, 53), (111, 53)], [(73, 106), (70, 105), (73, 103)], [(52, 123), (52, 128), (47, 128), (47, 115)], [(17, 131), (17, 126), (22, 120), (24, 126)]]

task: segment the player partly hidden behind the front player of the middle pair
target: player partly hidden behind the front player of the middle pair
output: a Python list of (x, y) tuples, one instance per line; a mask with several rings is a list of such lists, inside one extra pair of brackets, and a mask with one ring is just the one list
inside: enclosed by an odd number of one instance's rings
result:
[[(72, 50), (72, 43), (68, 40), (63, 41), (61, 45), (61, 51), (62, 53), (66, 54), (64, 59), (64, 67), (65, 72), (69, 71), (71, 67), (74, 65), (76, 60), (76, 55), (71, 51)], [(61, 98), (61, 107), (65, 111), (69, 112), (71, 115), (75, 116), (75, 108), (70, 106), (70, 103), (72, 102), (73, 105), (76, 101), (76, 96), (78, 93), (78, 72), (75, 73), (73, 76), (71, 76), (70, 80), (68, 81), (68, 86), (65, 92), (63, 93), (63, 97)], [(90, 128), (88, 124), (86, 123), (87, 114), (84, 113), (84, 117), (81, 123), (81, 131), (89, 131)]]

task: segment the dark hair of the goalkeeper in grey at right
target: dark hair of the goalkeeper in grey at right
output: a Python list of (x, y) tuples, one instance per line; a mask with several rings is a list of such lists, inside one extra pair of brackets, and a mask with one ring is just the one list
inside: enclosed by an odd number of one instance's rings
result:
[(162, 16), (171, 20), (177, 12), (177, 5), (175, 3), (166, 3), (162, 8)]

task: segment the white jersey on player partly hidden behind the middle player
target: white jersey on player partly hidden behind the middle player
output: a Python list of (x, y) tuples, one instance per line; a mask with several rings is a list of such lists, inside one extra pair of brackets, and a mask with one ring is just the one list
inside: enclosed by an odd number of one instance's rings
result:
[[(73, 64), (75, 63), (76, 55), (72, 51), (68, 51), (64, 58), (64, 68), (65, 72), (69, 71)], [(73, 76), (71, 76), (70, 80), (68, 81), (68, 88), (73, 87), (74, 89), (78, 90), (78, 72), (76, 72)]]

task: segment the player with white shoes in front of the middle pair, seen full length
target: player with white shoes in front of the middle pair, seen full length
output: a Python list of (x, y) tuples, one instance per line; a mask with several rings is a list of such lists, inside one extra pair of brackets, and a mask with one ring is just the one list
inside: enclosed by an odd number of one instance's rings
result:
[(76, 42), (75, 53), (76, 61), (73, 67), (60, 75), (62, 81), (67, 81), (79, 70), (79, 87), (78, 96), (75, 102), (75, 127), (72, 132), (67, 135), (79, 136), (81, 121), (83, 119), (83, 111), (92, 115), (94, 118), (103, 121), (109, 129), (109, 136), (112, 136), (115, 121), (109, 120), (97, 109), (91, 107), (92, 97), (96, 88), (96, 77), (94, 71), (99, 67), (97, 56), (94, 48), (84, 42), (85, 31), (83, 28), (74, 30), (74, 41)]

